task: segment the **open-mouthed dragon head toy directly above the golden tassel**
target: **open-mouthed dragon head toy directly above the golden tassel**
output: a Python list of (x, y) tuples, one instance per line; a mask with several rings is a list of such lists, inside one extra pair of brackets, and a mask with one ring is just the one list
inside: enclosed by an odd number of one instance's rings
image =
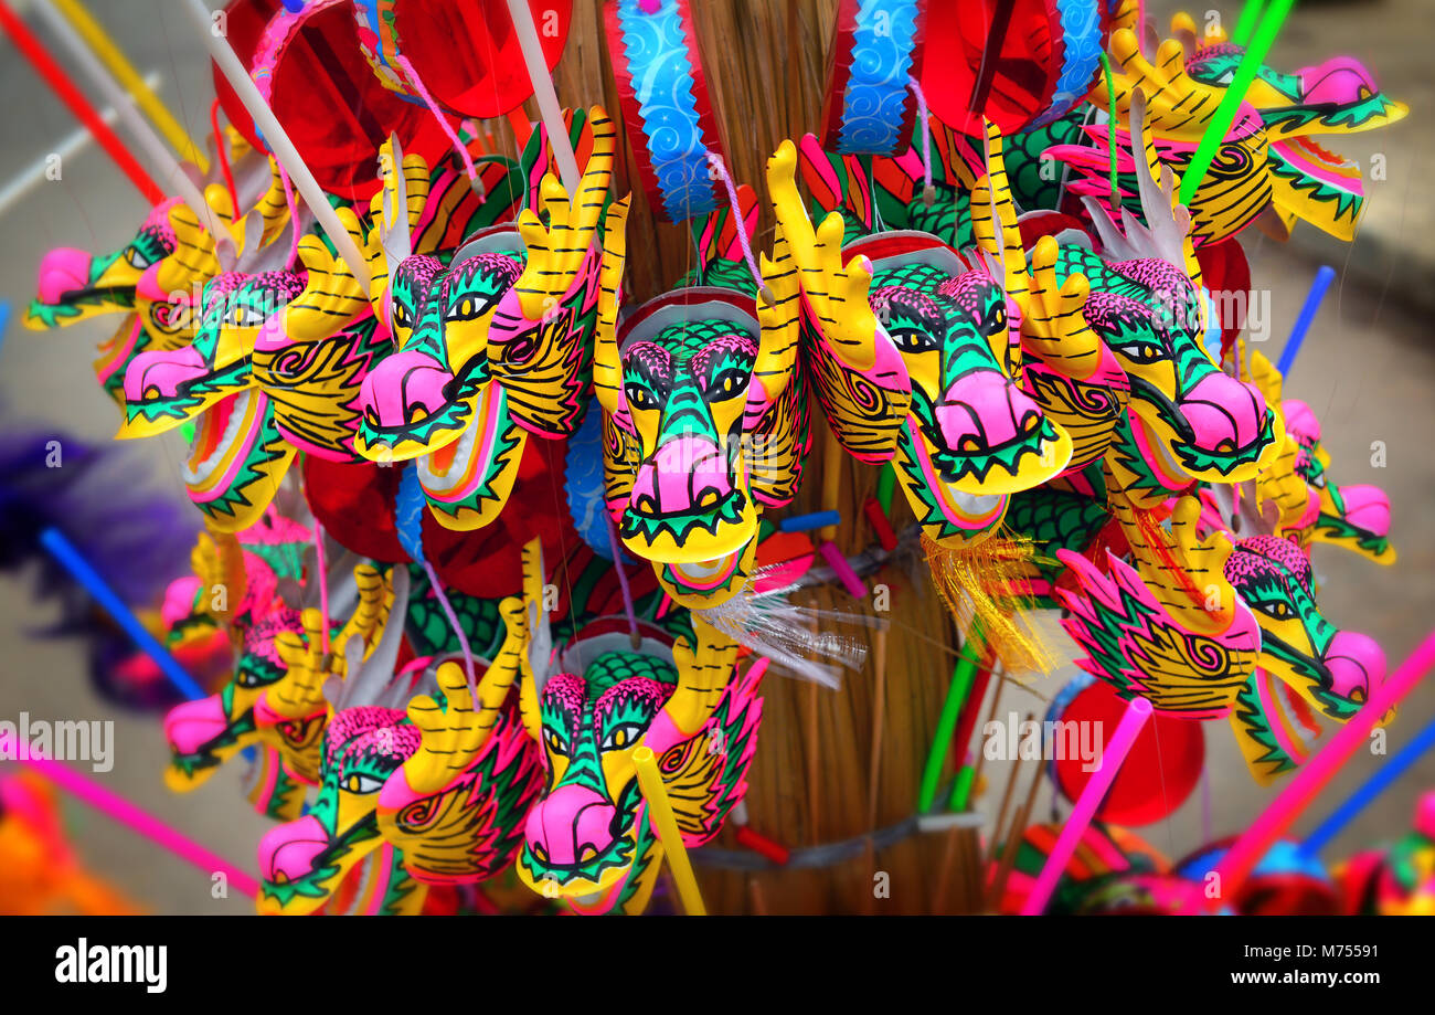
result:
[[(809, 177), (832, 175), (832, 162), (818, 161), (811, 145), (806, 152)], [(828, 422), (858, 459), (895, 457), (923, 531), (943, 546), (993, 531), (1007, 497), (1060, 474), (1072, 452), (1071, 438), (1019, 385), (1020, 333), (1007, 296), (1026, 291), (1026, 273), (1015, 215), (993, 224), (993, 204), (1009, 201), (994, 128), (989, 164), (990, 178), (971, 191), (971, 224), (993, 267), (914, 231), (842, 247), (841, 214), (815, 230), (808, 220), (795, 146), (784, 142), (768, 162), (802, 286), (804, 363)], [(855, 181), (848, 175), (827, 192), (852, 194)]]

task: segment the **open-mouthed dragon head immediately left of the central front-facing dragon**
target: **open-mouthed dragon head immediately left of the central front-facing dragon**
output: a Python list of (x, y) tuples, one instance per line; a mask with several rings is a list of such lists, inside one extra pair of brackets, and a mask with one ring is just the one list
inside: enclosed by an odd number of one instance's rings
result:
[[(538, 172), (517, 224), (479, 230), (456, 253), (416, 253), (423, 192), (386, 187), (375, 198), (389, 273), (373, 296), (396, 352), (363, 385), (354, 446), (375, 461), (418, 458), (448, 528), (494, 521), (528, 438), (570, 436), (583, 419), (616, 129), (598, 108), (574, 126), (588, 149), (578, 192)], [(541, 161), (542, 138), (531, 148), (540, 155), (525, 167)]]

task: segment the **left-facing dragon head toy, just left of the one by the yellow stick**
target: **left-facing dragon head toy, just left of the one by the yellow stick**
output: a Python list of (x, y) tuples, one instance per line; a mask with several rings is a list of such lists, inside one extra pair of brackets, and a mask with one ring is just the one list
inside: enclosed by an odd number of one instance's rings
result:
[[(395, 604), (406, 607), (406, 571), (395, 569), (393, 586)], [(527, 639), (522, 602), (505, 600), (502, 613), (511, 626), (476, 701), (452, 662), (438, 666), (441, 698), (409, 699), (406, 675), (395, 675), (403, 622), (393, 610), (373, 655), (352, 655), (343, 682), (329, 680), (319, 797), (260, 843), (263, 912), (320, 909), (379, 847), (393, 847), (423, 883), (481, 880), (511, 861), (538, 764), (514, 692)], [(301, 669), (323, 666), (313, 642), (291, 647), (303, 653)], [(396, 708), (405, 699), (406, 711)]]

